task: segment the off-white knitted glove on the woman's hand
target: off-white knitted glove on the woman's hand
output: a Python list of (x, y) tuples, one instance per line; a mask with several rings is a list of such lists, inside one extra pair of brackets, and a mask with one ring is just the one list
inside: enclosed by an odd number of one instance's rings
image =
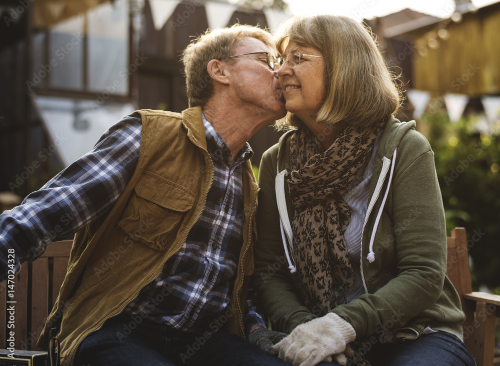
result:
[[(354, 328), (335, 313), (296, 327), (285, 339), (272, 347), (281, 360), (294, 366), (314, 366), (332, 357), (344, 361), (347, 344), (354, 341)], [(338, 357), (335, 357), (338, 355)]]

